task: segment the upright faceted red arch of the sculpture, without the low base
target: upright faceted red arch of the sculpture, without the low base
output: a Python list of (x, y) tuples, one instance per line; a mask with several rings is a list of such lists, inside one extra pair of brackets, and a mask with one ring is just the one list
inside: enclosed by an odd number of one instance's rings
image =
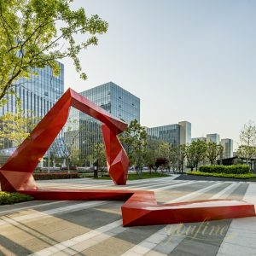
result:
[(66, 124), (71, 106), (102, 121), (104, 141), (111, 144), (105, 144), (109, 176), (116, 184), (124, 185), (126, 183), (129, 160), (117, 135), (125, 130), (127, 124), (114, 118), (108, 111), (90, 102), (74, 90), (68, 89), (35, 127), (30, 137), (21, 143), (15, 153), (0, 168), (2, 190), (16, 191), (38, 188), (32, 172), (61, 128)]

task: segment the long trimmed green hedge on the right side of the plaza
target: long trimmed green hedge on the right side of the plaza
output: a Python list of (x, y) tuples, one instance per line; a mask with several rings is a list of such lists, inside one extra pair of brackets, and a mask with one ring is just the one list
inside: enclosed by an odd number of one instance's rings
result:
[(249, 166), (236, 165), (236, 166), (200, 166), (199, 172), (207, 173), (233, 173), (233, 174), (245, 174), (249, 173)]

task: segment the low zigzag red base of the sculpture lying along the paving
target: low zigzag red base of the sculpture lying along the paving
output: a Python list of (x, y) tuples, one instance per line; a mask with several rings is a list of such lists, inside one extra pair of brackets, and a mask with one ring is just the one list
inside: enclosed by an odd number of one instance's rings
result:
[(256, 216), (254, 205), (245, 201), (207, 200), (157, 205), (154, 192), (151, 191), (38, 189), (19, 192), (32, 195), (36, 200), (125, 201), (122, 206), (123, 225), (125, 227)]

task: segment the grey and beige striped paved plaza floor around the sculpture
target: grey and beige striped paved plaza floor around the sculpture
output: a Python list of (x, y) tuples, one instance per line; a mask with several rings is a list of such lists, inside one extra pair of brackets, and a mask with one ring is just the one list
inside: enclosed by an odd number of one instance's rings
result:
[[(90, 178), (39, 181), (40, 188), (144, 189), (161, 203), (204, 199), (256, 205), (256, 183), (175, 180), (115, 186)], [(0, 255), (256, 255), (256, 218), (124, 228), (122, 201), (30, 201), (0, 207)]]

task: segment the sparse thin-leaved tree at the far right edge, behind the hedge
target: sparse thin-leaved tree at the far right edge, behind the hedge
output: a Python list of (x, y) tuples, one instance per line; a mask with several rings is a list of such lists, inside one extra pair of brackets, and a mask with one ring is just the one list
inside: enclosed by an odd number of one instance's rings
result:
[(249, 161), (256, 155), (256, 125), (249, 120), (247, 124), (243, 125), (240, 131), (240, 146), (237, 150), (237, 155)]

